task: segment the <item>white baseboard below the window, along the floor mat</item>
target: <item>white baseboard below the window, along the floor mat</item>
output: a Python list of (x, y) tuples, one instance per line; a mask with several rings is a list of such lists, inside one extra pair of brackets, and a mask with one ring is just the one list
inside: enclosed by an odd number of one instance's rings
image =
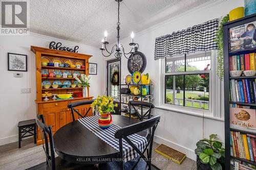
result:
[(174, 143), (172, 141), (169, 141), (169, 140), (166, 140), (162, 137), (159, 137), (159, 136), (154, 136), (154, 141), (159, 143), (159, 144), (165, 144), (167, 145), (168, 147), (171, 147), (177, 151), (180, 151), (182, 152), (183, 154), (186, 154), (186, 156), (192, 160), (197, 160), (197, 156), (195, 154), (195, 152), (193, 150), (190, 150), (188, 148), (185, 148), (177, 143)]

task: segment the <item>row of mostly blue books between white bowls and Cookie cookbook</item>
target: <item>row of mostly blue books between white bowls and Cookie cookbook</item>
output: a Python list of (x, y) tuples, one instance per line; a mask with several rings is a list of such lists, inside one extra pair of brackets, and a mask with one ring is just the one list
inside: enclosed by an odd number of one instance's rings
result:
[(229, 98), (231, 102), (256, 103), (256, 79), (229, 81)]

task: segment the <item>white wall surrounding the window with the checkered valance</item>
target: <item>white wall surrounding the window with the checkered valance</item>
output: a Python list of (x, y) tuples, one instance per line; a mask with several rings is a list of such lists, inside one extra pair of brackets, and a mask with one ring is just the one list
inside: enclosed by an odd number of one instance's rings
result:
[[(158, 77), (161, 75), (159, 75), (158, 72), (158, 61), (154, 60), (155, 38), (224, 16), (231, 9), (244, 6), (243, 2), (244, 1), (241, 0), (209, 1), (206, 5), (186, 11), (177, 17), (170, 18), (169, 20), (143, 30), (140, 33), (135, 33), (134, 42), (139, 43), (139, 51), (144, 53), (147, 59), (146, 68), (143, 73), (148, 72), (154, 84), (156, 106), (159, 106), (156, 101), (159, 100), (158, 88), (159, 86), (161, 87), (161, 84), (158, 82)], [(120, 31), (122, 32), (122, 30)], [(121, 41), (121, 44), (125, 46), (126, 51), (130, 50), (130, 46), (127, 45), (130, 42), (131, 38), (126, 38)], [(122, 76), (130, 74), (127, 70), (127, 59), (122, 57), (121, 63)], [(191, 159), (196, 159), (194, 150), (196, 148), (196, 142), (199, 139), (208, 137), (210, 134), (218, 134), (219, 139), (224, 142), (223, 115), (220, 119), (204, 118), (203, 122), (203, 118), (200, 116), (159, 108), (154, 109), (154, 113), (155, 115), (161, 116), (161, 122), (155, 134), (155, 141), (158, 143), (165, 143), (170, 147), (185, 153), (187, 157)]]

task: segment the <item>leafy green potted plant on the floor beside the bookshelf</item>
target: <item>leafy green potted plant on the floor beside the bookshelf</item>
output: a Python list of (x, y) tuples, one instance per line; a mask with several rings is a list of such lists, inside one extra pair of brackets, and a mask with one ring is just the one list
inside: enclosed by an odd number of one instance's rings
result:
[(225, 149), (222, 143), (215, 140), (216, 134), (211, 134), (209, 139), (197, 142), (197, 170), (221, 170), (225, 169)]

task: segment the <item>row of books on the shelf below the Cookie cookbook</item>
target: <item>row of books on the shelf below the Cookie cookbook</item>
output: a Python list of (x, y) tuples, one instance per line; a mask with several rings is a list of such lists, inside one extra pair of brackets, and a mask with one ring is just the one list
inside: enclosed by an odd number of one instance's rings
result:
[(255, 135), (230, 131), (230, 155), (256, 162)]

